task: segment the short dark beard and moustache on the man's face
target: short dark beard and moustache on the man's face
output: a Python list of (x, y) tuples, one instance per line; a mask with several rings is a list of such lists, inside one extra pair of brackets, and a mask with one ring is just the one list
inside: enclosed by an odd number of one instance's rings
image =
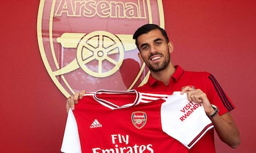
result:
[[(156, 53), (156, 54), (160, 54), (160, 53)], [(156, 54), (151, 54), (150, 57), (154, 56)], [(161, 54), (161, 55), (163, 56), (163, 54)], [(164, 70), (166, 67), (168, 67), (169, 62), (170, 62), (170, 55), (167, 54), (167, 57), (164, 57), (164, 61), (161, 62), (161, 63), (159, 62), (157, 64), (150, 64), (148, 62), (145, 62), (145, 64), (150, 69), (150, 71), (152, 71), (152, 72), (160, 72), (161, 70)]]

